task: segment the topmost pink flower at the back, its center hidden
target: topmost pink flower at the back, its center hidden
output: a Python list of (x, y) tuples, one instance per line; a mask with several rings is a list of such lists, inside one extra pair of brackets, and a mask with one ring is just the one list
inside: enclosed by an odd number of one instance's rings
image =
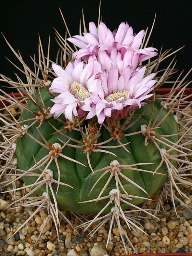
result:
[(133, 34), (132, 27), (128, 23), (122, 22), (118, 30), (111, 32), (107, 26), (101, 22), (97, 31), (94, 22), (89, 23), (89, 33), (83, 33), (83, 36), (76, 35), (68, 38), (68, 41), (75, 44), (80, 48), (79, 51), (74, 53), (77, 59), (82, 58), (87, 60), (90, 55), (96, 55), (100, 51), (106, 51), (109, 55), (113, 47), (121, 52), (122, 57), (126, 50), (135, 50), (139, 54), (139, 62), (147, 60), (157, 55), (156, 48), (147, 47), (139, 49), (145, 31), (142, 30), (138, 34)]

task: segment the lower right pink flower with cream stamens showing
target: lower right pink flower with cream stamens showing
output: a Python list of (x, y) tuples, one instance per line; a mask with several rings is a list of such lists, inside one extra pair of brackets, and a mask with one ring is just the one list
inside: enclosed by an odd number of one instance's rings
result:
[(145, 70), (144, 66), (133, 72), (128, 65), (121, 71), (116, 65), (109, 71), (103, 71), (98, 79), (96, 91), (91, 93), (93, 105), (86, 119), (96, 115), (98, 122), (102, 124), (106, 116), (111, 117), (114, 111), (117, 111), (117, 116), (121, 116), (127, 113), (125, 108), (133, 110), (145, 105), (142, 101), (153, 95), (149, 93), (157, 81), (152, 80), (155, 73), (143, 78)]

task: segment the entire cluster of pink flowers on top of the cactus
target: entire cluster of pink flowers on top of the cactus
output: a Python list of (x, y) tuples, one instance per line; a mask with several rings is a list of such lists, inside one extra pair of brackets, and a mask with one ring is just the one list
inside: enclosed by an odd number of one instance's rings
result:
[(64, 113), (70, 122), (73, 116), (96, 116), (102, 124), (112, 115), (124, 118), (153, 95), (149, 93), (157, 82), (153, 79), (156, 74), (146, 76), (146, 66), (140, 62), (156, 56), (157, 49), (139, 49), (145, 31), (134, 35), (128, 23), (122, 22), (118, 30), (111, 32), (101, 22), (97, 32), (96, 25), (90, 22), (89, 30), (68, 39), (81, 49), (73, 54), (74, 60), (65, 70), (52, 65), (58, 77), (49, 91), (59, 95), (52, 99), (55, 105), (50, 113), (55, 113), (55, 118)]

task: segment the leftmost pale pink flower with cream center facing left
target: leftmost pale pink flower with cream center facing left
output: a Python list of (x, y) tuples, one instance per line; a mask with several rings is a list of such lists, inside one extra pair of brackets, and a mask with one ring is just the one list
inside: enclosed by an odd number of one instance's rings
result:
[(49, 92), (59, 93), (52, 101), (55, 103), (50, 110), (55, 119), (62, 113), (73, 122), (73, 115), (84, 116), (91, 110), (90, 93), (96, 90), (97, 80), (93, 74), (93, 62), (85, 65), (80, 60), (69, 62), (66, 69), (52, 64), (58, 76), (49, 88)]

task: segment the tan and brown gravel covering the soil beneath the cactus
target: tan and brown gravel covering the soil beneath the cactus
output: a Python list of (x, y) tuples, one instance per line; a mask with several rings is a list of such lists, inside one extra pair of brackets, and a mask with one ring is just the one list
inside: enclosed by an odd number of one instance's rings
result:
[[(20, 181), (17, 187), (24, 186)], [(180, 187), (181, 188), (181, 187)], [(1, 188), (1, 191), (3, 187)], [(185, 199), (185, 203), (192, 206), (192, 194), (189, 187), (182, 187), (182, 190), (189, 199)], [(26, 193), (27, 191), (25, 191)], [(59, 228), (59, 240), (57, 238), (56, 229), (53, 222), (48, 222), (43, 230), (43, 234), (36, 242), (39, 231), (42, 229), (47, 212), (41, 210), (13, 237), (12, 234), (17, 231), (19, 226), (32, 215), (35, 208), (24, 207), (2, 211), (12, 200), (22, 196), (24, 190), (17, 191), (14, 195), (11, 193), (0, 194), (0, 255), (28, 255), (28, 256), (103, 256), (105, 254), (111, 256), (124, 255), (124, 248), (119, 235), (119, 230), (113, 228), (112, 239), (106, 249), (106, 241), (108, 237), (109, 224), (105, 224), (91, 238), (86, 237), (87, 233), (83, 233), (83, 228), (72, 230), (70, 224), (61, 222)], [(178, 196), (178, 195), (177, 195)], [(158, 196), (153, 197), (154, 201), (148, 201), (145, 208), (155, 209)], [(18, 206), (16, 204), (14, 207)], [(139, 230), (130, 231), (122, 221), (124, 232), (131, 239), (138, 253), (167, 253), (167, 252), (192, 252), (192, 211), (184, 207), (178, 202), (176, 210), (179, 219), (176, 218), (175, 211), (171, 202), (162, 200), (165, 212), (160, 211), (159, 219), (150, 218), (141, 221), (144, 226), (144, 231), (148, 234), (143, 234)], [(152, 211), (151, 211), (152, 213)], [(74, 226), (80, 223), (79, 218), (66, 212), (67, 216)], [(90, 216), (91, 218), (91, 216)], [(94, 228), (93, 225), (91, 228)], [(90, 231), (89, 229), (88, 231)], [(36, 242), (36, 244), (35, 244)], [(134, 254), (131, 246), (126, 243), (129, 254)]]

